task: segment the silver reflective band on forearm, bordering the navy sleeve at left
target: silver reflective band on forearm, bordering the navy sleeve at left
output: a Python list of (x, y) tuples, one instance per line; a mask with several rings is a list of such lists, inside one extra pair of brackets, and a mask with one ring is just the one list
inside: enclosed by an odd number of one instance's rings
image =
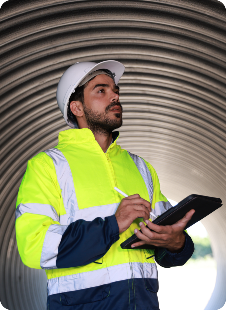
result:
[(42, 269), (56, 269), (56, 256), (58, 247), (67, 225), (50, 225), (42, 246), (40, 266)]

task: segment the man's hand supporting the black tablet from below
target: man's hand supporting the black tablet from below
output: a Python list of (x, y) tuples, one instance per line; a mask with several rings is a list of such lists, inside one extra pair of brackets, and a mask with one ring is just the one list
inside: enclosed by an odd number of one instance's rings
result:
[(145, 220), (147, 226), (153, 231), (150, 231), (144, 223), (140, 222), (140, 228), (143, 233), (138, 229), (135, 229), (134, 232), (142, 241), (134, 243), (131, 247), (151, 244), (154, 246), (162, 246), (172, 253), (179, 253), (185, 242), (185, 236), (183, 234), (184, 228), (194, 213), (195, 210), (192, 209), (178, 222), (167, 226), (156, 225)]

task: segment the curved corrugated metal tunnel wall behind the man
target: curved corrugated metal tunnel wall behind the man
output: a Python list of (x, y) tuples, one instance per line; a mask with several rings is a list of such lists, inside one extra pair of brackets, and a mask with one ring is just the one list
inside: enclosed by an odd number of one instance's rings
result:
[[(3, 309), (45, 309), (46, 276), (23, 265), (15, 204), (29, 158), (68, 127), (56, 104), (77, 61), (121, 61), (119, 144), (157, 170), (162, 192), (226, 201), (224, 1), (9, 0), (1, 7), (0, 296)], [(203, 220), (218, 273), (206, 310), (226, 305), (226, 208)], [(183, 280), (184, 281), (184, 280)]]

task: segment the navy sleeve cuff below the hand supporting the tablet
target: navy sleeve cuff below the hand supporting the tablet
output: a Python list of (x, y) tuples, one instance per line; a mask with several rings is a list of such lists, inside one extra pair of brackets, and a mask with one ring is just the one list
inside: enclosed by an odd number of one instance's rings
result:
[(170, 251), (166, 250), (166, 248), (157, 247), (155, 249), (155, 261), (160, 266), (165, 268), (170, 268), (174, 266), (182, 266), (184, 265), (189, 258), (191, 258), (195, 247), (192, 241), (192, 238), (186, 233), (183, 232), (185, 235), (185, 244), (184, 248), (180, 253), (171, 253)]

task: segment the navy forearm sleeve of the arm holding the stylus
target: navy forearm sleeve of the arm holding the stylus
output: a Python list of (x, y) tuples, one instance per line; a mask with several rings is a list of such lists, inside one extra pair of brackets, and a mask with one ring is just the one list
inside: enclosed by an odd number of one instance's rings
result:
[(100, 259), (119, 239), (115, 215), (97, 217), (91, 222), (83, 219), (71, 223), (58, 247), (57, 268), (86, 265)]

